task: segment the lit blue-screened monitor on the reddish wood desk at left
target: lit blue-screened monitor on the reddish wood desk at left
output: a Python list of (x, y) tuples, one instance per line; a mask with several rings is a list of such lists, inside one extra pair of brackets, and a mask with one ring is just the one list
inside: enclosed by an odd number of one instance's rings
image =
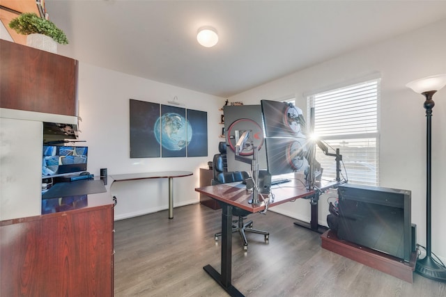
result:
[(43, 145), (42, 178), (86, 171), (88, 147)]

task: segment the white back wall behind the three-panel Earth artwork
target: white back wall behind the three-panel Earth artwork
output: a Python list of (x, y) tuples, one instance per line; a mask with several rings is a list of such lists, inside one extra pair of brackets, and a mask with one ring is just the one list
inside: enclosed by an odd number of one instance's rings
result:
[[(130, 76), (79, 62), (79, 115), (82, 133), (79, 140), (89, 146), (87, 170), (99, 176), (100, 168), (108, 175), (164, 170), (188, 170), (191, 177), (174, 179), (174, 206), (199, 202), (194, 188), (199, 186), (199, 168), (207, 168), (217, 153), (221, 134), (220, 111), (224, 99), (164, 83)], [(129, 100), (168, 104), (174, 96), (187, 109), (208, 113), (208, 156), (189, 158), (130, 159)], [(146, 179), (115, 182), (109, 177), (107, 188), (118, 198), (115, 219), (167, 209), (168, 180)], [(111, 187), (110, 187), (111, 186)], [(174, 212), (175, 215), (175, 212)], [(167, 216), (166, 216), (167, 217)]]

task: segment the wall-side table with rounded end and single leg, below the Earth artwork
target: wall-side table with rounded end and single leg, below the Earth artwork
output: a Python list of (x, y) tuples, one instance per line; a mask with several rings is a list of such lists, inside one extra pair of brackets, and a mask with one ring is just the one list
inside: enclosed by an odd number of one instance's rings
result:
[(168, 178), (169, 179), (169, 218), (174, 218), (174, 177), (187, 177), (193, 175), (191, 171), (160, 171), (129, 173), (126, 175), (110, 175), (114, 182), (125, 182), (137, 179)]

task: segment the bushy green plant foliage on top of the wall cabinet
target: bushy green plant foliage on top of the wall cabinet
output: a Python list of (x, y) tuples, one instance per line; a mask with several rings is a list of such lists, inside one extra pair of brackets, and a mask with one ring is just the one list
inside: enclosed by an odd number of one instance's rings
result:
[(68, 38), (63, 31), (56, 27), (56, 25), (39, 17), (36, 13), (22, 13), (9, 23), (10, 29), (13, 29), (19, 34), (29, 35), (33, 33), (40, 33), (51, 37), (54, 41), (61, 45), (68, 45)]

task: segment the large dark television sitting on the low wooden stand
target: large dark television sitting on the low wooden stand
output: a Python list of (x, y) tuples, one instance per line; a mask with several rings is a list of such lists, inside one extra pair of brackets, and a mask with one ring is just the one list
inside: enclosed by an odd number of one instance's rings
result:
[(415, 245), (410, 191), (342, 184), (338, 196), (339, 239), (410, 262)]

